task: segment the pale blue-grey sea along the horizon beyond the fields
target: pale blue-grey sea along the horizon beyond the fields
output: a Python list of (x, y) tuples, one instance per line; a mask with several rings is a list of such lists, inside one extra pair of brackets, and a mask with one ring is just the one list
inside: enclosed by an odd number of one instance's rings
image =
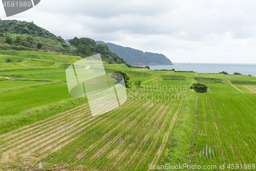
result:
[(251, 74), (256, 77), (256, 64), (196, 64), (196, 63), (174, 63), (174, 65), (152, 65), (155, 69), (175, 69), (177, 71), (195, 71), (199, 73), (219, 73), (226, 71), (228, 74), (240, 72), (243, 75)]

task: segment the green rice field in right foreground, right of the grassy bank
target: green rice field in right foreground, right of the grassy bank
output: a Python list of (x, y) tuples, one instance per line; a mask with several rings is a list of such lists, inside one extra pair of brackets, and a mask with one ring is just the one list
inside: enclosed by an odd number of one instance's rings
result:
[(252, 164), (256, 162), (255, 95), (200, 94), (198, 117), (196, 164), (216, 164), (217, 168), (219, 164), (225, 164), (226, 168), (228, 164), (239, 164), (236, 170), (253, 170)]

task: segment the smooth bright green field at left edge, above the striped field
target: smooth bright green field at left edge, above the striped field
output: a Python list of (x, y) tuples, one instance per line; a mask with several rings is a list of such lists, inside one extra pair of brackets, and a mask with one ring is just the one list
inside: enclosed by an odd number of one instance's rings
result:
[(66, 84), (3, 93), (0, 96), (1, 116), (15, 115), (27, 109), (71, 98)]

